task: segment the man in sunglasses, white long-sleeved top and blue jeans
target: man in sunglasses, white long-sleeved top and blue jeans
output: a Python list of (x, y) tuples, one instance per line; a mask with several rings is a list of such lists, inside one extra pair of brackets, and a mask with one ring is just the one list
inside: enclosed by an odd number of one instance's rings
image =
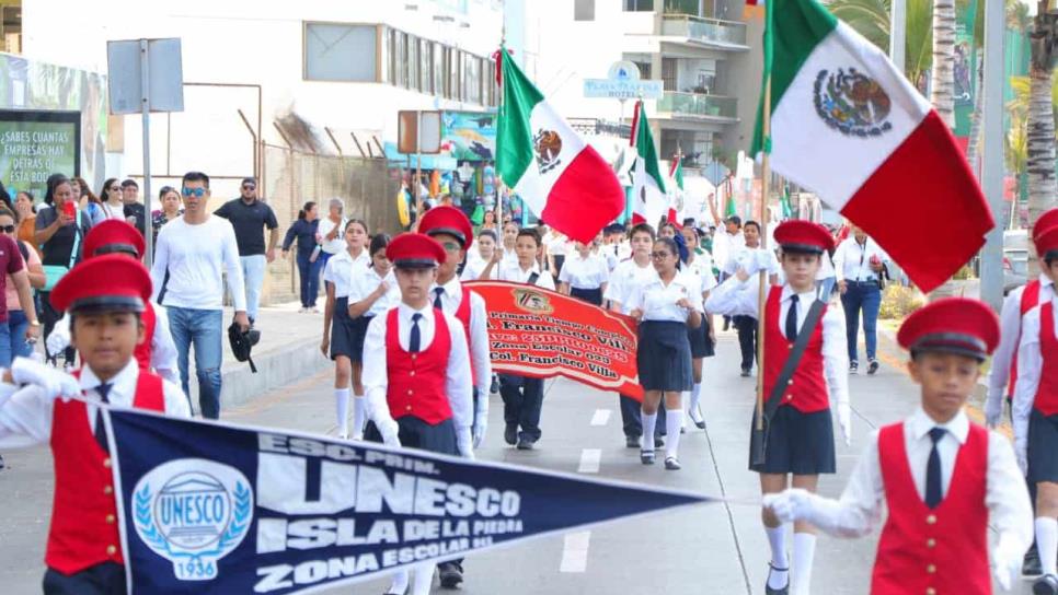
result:
[(250, 328), (246, 291), (235, 231), (228, 220), (212, 217), (209, 176), (202, 172), (184, 174), (182, 190), (184, 214), (158, 233), (151, 279), (153, 299), (165, 306), (169, 328), (176, 343), (181, 385), (185, 394), (191, 369), (191, 346), (195, 346), (195, 375), (202, 416), (220, 417), (220, 365), (223, 361), (225, 278), (235, 307), (235, 324)]

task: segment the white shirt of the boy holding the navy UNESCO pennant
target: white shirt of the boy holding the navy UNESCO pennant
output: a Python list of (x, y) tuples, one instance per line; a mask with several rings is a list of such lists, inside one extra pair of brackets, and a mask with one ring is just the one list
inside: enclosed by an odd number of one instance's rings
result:
[[(115, 407), (133, 407), (136, 400), (136, 383), (139, 380), (139, 364), (129, 360), (125, 368), (110, 380), (111, 392), (107, 400)], [(101, 401), (96, 388), (103, 384), (88, 366), (81, 369), (81, 389), (90, 401)], [(165, 415), (175, 418), (191, 417), (191, 401), (175, 384), (162, 380)], [(45, 395), (41, 387), (27, 385), (19, 388), (11, 384), (0, 384), (0, 448), (24, 447), (45, 444), (51, 438), (51, 415), (55, 399)], [(89, 428), (95, 431), (96, 406), (89, 402)]]

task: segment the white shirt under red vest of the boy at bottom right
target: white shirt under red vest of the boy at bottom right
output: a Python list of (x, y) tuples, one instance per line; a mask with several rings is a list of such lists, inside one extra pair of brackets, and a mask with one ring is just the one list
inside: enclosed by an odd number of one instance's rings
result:
[[(929, 431), (934, 427), (947, 430), (936, 443), (941, 459), (941, 493), (944, 495), (952, 483), (958, 450), (966, 443), (969, 434), (969, 420), (963, 411), (947, 423), (936, 423), (919, 407), (905, 420), (904, 445), (907, 448), (908, 466), (915, 490), (923, 500), (925, 469), (930, 451), (933, 448)], [(999, 532), (1001, 539), (1016, 539), (1020, 546), (1017, 551), (1028, 549), (1033, 541), (1033, 512), (1025, 478), (1017, 470), (1010, 442), (992, 431), (988, 432), (988, 470), (985, 481), (985, 505), (989, 510), (989, 525)], [(881, 523), (884, 502), (885, 483), (878, 457), (878, 432), (875, 431), (872, 432), (863, 455), (856, 460), (841, 499), (835, 508), (820, 515), (825, 522), (819, 528), (839, 537), (866, 535)]]

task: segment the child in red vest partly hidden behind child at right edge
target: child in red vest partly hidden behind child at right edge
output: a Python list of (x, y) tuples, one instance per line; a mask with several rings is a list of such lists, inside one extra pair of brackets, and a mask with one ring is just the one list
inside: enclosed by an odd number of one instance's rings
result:
[[(1036, 243), (1044, 230), (1058, 225), (1058, 209), (1045, 212), (1033, 226), (1033, 242)], [(1036, 246), (1036, 254), (1039, 246)], [(1021, 341), (1022, 319), (1031, 310), (1047, 302), (1055, 294), (1055, 276), (1047, 267), (1040, 267), (1039, 277), (1011, 291), (1003, 300), (1000, 313), (1000, 328), (1002, 329), (999, 347), (992, 354), (992, 365), (988, 373), (988, 398), (985, 401), (985, 420), (989, 428), (996, 428), (1003, 416), (1003, 397), (1009, 404), (1014, 396), (1017, 385), (1017, 343)], [(1011, 410), (1011, 412), (1013, 412)], [(1035, 487), (1028, 487), (1030, 495)], [(1025, 553), (1022, 573), (1038, 575), (1043, 572), (1039, 564), (1039, 552), (1036, 544)]]

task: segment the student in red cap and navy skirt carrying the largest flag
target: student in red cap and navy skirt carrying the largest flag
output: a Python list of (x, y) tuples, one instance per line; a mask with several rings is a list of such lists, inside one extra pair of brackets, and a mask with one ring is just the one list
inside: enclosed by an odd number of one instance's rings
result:
[[(821, 225), (791, 220), (775, 228), (775, 242), (782, 248), (781, 264), (786, 282), (772, 285), (768, 293), (763, 312), (764, 369), (761, 371), (764, 401), (771, 402), (775, 410), (768, 421), (763, 463), (751, 460), (750, 470), (760, 474), (760, 489), (764, 494), (781, 492), (791, 483), (794, 488), (814, 492), (819, 475), (832, 474), (837, 467), (832, 409), (846, 444), (851, 441), (844, 320), (840, 311), (823, 302), (816, 306), (821, 307), (819, 324), (805, 328), (808, 313), (818, 301), (816, 273), (820, 258), (825, 250), (833, 248), (833, 237)], [(713, 290), (705, 310), (725, 314), (734, 308), (745, 308), (756, 315), (755, 288), (758, 281), (755, 273), (761, 267), (767, 265), (758, 260), (756, 265), (738, 268), (734, 277)], [(784, 382), (780, 376), (801, 332), (810, 332), (807, 347)], [(756, 422), (755, 411), (752, 423)], [(807, 523), (794, 525), (791, 573), (785, 529), (770, 509), (766, 508), (761, 517), (771, 546), (766, 593), (785, 593), (787, 590), (795, 595), (808, 593), (816, 549), (815, 529)]]

